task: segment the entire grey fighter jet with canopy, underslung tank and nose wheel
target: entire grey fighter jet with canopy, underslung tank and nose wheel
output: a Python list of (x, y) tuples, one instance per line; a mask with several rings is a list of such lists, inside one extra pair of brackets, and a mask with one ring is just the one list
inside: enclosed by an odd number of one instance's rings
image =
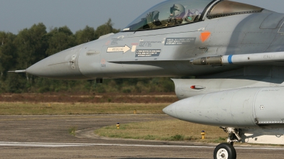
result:
[(229, 133), (235, 142), (284, 143), (284, 14), (227, 0), (164, 1), (120, 33), (78, 45), (26, 72), (53, 79), (173, 79), (180, 101), (163, 111)]

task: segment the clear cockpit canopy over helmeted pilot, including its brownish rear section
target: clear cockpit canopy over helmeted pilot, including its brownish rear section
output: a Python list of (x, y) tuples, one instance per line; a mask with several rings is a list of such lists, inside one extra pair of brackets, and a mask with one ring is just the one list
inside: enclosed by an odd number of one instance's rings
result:
[(123, 31), (143, 31), (195, 23), (203, 21), (205, 13), (207, 18), (219, 18), (241, 13), (257, 13), (262, 10), (257, 6), (227, 0), (164, 1), (136, 18)]

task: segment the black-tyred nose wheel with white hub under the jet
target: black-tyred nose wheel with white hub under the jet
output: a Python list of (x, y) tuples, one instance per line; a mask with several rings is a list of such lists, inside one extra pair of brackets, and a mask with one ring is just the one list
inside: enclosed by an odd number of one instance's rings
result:
[(236, 150), (229, 143), (221, 143), (214, 150), (214, 159), (236, 159)]

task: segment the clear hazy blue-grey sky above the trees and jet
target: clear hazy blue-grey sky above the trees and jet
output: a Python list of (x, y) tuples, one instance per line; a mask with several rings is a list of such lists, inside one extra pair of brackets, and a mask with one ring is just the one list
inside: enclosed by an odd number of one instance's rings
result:
[[(0, 31), (18, 34), (33, 24), (50, 28), (67, 26), (75, 33), (85, 26), (106, 23), (123, 29), (131, 21), (164, 0), (0, 0)], [(170, 0), (174, 1), (174, 0)], [(190, 1), (190, 0), (189, 0)], [(284, 0), (234, 0), (284, 13)]]

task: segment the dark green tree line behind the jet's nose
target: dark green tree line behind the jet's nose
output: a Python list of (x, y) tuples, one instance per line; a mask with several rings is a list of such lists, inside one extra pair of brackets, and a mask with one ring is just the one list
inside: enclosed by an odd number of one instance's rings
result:
[(43, 23), (24, 28), (17, 35), (0, 31), (0, 93), (43, 93), (43, 92), (173, 92), (170, 78), (104, 79), (103, 84), (94, 80), (57, 80), (35, 77), (23, 73), (9, 73), (9, 70), (22, 70), (45, 57), (75, 45), (96, 40), (101, 35), (118, 33), (111, 19), (94, 29), (86, 26), (72, 33), (62, 26), (46, 31)]

